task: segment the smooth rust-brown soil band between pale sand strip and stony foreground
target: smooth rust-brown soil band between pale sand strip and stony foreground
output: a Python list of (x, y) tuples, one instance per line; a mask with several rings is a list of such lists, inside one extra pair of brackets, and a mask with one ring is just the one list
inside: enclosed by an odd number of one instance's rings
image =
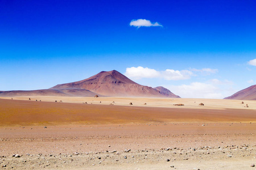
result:
[(148, 122), (256, 122), (249, 109), (183, 109), (0, 99), (0, 124), (132, 124)]

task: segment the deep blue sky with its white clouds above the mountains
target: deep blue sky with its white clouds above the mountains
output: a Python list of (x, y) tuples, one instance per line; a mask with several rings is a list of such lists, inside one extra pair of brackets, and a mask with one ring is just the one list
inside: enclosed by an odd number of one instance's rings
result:
[(0, 91), (117, 70), (181, 97), (221, 99), (256, 84), (255, 7), (255, 1), (0, 1)]

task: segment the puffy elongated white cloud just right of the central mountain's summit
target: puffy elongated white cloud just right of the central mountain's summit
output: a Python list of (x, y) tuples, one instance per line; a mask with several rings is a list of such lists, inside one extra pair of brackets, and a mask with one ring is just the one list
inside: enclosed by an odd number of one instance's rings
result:
[(126, 68), (125, 75), (129, 78), (163, 78), (166, 80), (184, 80), (189, 79), (193, 73), (189, 70), (172, 70), (156, 71), (148, 67), (130, 67)]

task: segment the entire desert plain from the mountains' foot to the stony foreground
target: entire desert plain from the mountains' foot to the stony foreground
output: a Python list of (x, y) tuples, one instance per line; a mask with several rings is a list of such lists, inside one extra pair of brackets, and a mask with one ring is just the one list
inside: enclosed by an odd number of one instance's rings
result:
[(255, 100), (0, 99), (2, 169), (255, 169), (255, 149)]

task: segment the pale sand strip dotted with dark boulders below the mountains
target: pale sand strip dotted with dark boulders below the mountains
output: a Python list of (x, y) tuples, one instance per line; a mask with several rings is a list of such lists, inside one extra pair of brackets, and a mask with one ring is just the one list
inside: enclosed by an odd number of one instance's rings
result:
[[(224, 99), (184, 99), (184, 98), (143, 98), (143, 97), (63, 97), (63, 96), (19, 96), (13, 97), (14, 100), (28, 100), (28, 97), (32, 101), (41, 100), (63, 103), (88, 103), (88, 104), (101, 104), (109, 105), (129, 105), (133, 103), (134, 106), (139, 107), (166, 107), (166, 108), (180, 108), (174, 104), (184, 104), (183, 108), (189, 109), (256, 109), (255, 100), (224, 100)], [(11, 99), (11, 97), (0, 97), (1, 99)], [(101, 103), (100, 103), (101, 101)], [(241, 104), (243, 101), (244, 104)], [(144, 105), (146, 103), (146, 105)], [(199, 106), (200, 103), (204, 104), (204, 107)], [(248, 104), (249, 108), (245, 108)]]

